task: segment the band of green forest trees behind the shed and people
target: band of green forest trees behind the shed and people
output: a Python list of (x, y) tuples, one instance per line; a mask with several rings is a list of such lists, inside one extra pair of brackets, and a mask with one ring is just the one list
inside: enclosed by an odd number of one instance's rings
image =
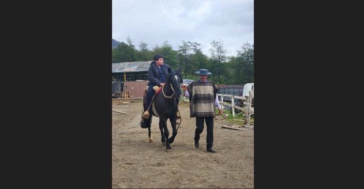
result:
[(197, 80), (195, 73), (199, 69), (208, 69), (212, 75), (209, 80), (216, 85), (244, 85), (254, 83), (254, 44), (243, 43), (236, 50), (236, 56), (228, 56), (223, 40), (213, 40), (210, 54), (204, 54), (201, 44), (181, 40), (182, 45), (173, 49), (167, 40), (162, 45), (149, 49), (148, 44), (141, 41), (137, 47), (128, 36), (126, 42), (115, 39), (112, 48), (112, 62), (135, 62), (153, 60), (154, 54), (162, 54), (164, 63), (171, 69), (182, 69), (183, 79)]

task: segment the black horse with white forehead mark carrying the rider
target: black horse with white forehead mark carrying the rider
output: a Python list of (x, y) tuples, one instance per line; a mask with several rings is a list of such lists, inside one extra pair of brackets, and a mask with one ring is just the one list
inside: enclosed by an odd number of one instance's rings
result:
[[(148, 128), (149, 142), (152, 142), (153, 137), (150, 131), (152, 116), (159, 117), (159, 129), (161, 130), (161, 137), (162, 137), (161, 141), (162, 145), (166, 146), (165, 150), (166, 152), (171, 151), (172, 148), (170, 147), (170, 144), (174, 141), (174, 138), (177, 135), (176, 114), (178, 111), (178, 103), (176, 102), (176, 98), (180, 98), (182, 94), (181, 84), (182, 84), (181, 69), (171, 70), (170, 68), (168, 68), (168, 74), (165, 79), (165, 85), (162, 86), (160, 92), (158, 91), (156, 92), (152, 102), (150, 103), (149, 119), (142, 118), (142, 120), (140, 121), (140, 127)], [(143, 95), (142, 113), (146, 110), (145, 108), (146, 96), (147, 92), (145, 92)], [(168, 138), (169, 136), (167, 128), (168, 119), (172, 125), (172, 136), (170, 138)], [(168, 140), (166, 140), (166, 138), (168, 138)]]

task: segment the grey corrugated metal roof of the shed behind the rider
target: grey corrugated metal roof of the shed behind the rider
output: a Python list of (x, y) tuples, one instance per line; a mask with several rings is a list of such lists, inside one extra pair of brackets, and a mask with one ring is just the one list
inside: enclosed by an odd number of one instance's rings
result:
[(113, 73), (148, 71), (152, 60), (147, 62), (120, 62), (112, 63)]

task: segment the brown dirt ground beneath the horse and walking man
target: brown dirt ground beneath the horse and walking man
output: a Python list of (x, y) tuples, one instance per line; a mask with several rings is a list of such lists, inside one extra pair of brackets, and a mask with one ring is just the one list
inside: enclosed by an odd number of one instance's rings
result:
[[(158, 126), (153, 117), (153, 141), (148, 129), (141, 128), (142, 100), (128, 100), (112, 112), (112, 186), (122, 188), (254, 188), (254, 130), (221, 128), (232, 125), (227, 120), (214, 123), (214, 150), (206, 152), (206, 125), (199, 148), (194, 146), (196, 119), (190, 118), (188, 102), (180, 102), (182, 116), (178, 134), (165, 152)], [(172, 128), (167, 121), (169, 137)]]

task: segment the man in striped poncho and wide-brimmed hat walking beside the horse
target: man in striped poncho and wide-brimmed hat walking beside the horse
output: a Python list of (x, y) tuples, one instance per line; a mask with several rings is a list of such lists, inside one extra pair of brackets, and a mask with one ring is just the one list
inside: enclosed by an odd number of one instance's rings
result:
[(200, 134), (204, 128), (204, 121), (206, 121), (206, 150), (207, 152), (216, 153), (212, 148), (214, 142), (214, 118), (215, 106), (222, 114), (221, 104), (218, 102), (217, 90), (218, 87), (213, 81), (207, 80), (211, 72), (207, 69), (200, 69), (195, 73), (199, 74), (199, 80), (192, 82), (188, 86), (182, 85), (185, 97), (190, 100), (190, 117), (196, 117), (195, 129), (195, 147), (199, 148)]

